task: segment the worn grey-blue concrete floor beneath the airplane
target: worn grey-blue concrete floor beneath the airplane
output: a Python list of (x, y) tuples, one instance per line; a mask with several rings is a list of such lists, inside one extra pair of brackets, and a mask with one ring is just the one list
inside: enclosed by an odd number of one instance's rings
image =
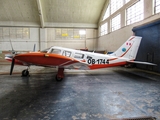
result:
[(65, 71), (56, 82), (55, 69), (0, 65), (0, 119), (108, 120), (153, 116), (160, 120), (160, 75), (122, 67)]

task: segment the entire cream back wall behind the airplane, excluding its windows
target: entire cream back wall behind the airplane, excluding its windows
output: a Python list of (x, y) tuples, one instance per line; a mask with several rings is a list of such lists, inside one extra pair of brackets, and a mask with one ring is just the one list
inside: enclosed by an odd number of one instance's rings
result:
[(10, 39), (14, 50), (17, 51), (32, 51), (34, 44), (36, 44), (36, 51), (46, 49), (50, 46), (61, 46), (74, 49), (84, 49), (86, 46), (89, 50), (93, 50), (95, 48), (97, 29), (86, 29), (86, 39), (83, 40), (56, 40), (55, 29), (56, 28), (30, 27), (30, 37), (28, 39), (12, 38), (10, 36), (8, 36), (8, 38), (0, 37), (0, 51), (9, 51), (12, 49)]

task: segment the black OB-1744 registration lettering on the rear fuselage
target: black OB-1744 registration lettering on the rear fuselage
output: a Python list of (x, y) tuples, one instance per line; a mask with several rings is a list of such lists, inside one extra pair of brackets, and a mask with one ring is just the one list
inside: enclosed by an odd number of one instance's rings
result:
[(88, 64), (109, 64), (107, 59), (88, 59)]

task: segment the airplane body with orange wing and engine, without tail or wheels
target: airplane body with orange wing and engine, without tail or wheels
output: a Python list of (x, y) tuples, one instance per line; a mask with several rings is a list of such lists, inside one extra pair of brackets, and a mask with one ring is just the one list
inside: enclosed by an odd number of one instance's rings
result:
[[(65, 69), (99, 69), (126, 64), (126, 58), (113, 55), (86, 52), (63, 47), (50, 47), (41, 52), (28, 52), (14, 56), (15, 64), (37, 65), (45, 67), (63, 67)], [(12, 58), (6, 57), (12, 61)]]

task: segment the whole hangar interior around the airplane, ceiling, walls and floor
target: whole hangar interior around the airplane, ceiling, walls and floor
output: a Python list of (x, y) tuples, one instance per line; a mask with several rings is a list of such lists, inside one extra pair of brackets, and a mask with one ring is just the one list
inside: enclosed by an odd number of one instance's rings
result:
[[(0, 119), (160, 119), (160, 0), (1, 0), (0, 5)], [(25, 66), (15, 65), (10, 76), (12, 64), (5, 60), (15, 51), (51, 46), (110, 54), (131, 36), (142, 37), (135, 60), (156, 65), (67, 69), (57, 82), (57, 67), (30, 66), (23, 77)]]

